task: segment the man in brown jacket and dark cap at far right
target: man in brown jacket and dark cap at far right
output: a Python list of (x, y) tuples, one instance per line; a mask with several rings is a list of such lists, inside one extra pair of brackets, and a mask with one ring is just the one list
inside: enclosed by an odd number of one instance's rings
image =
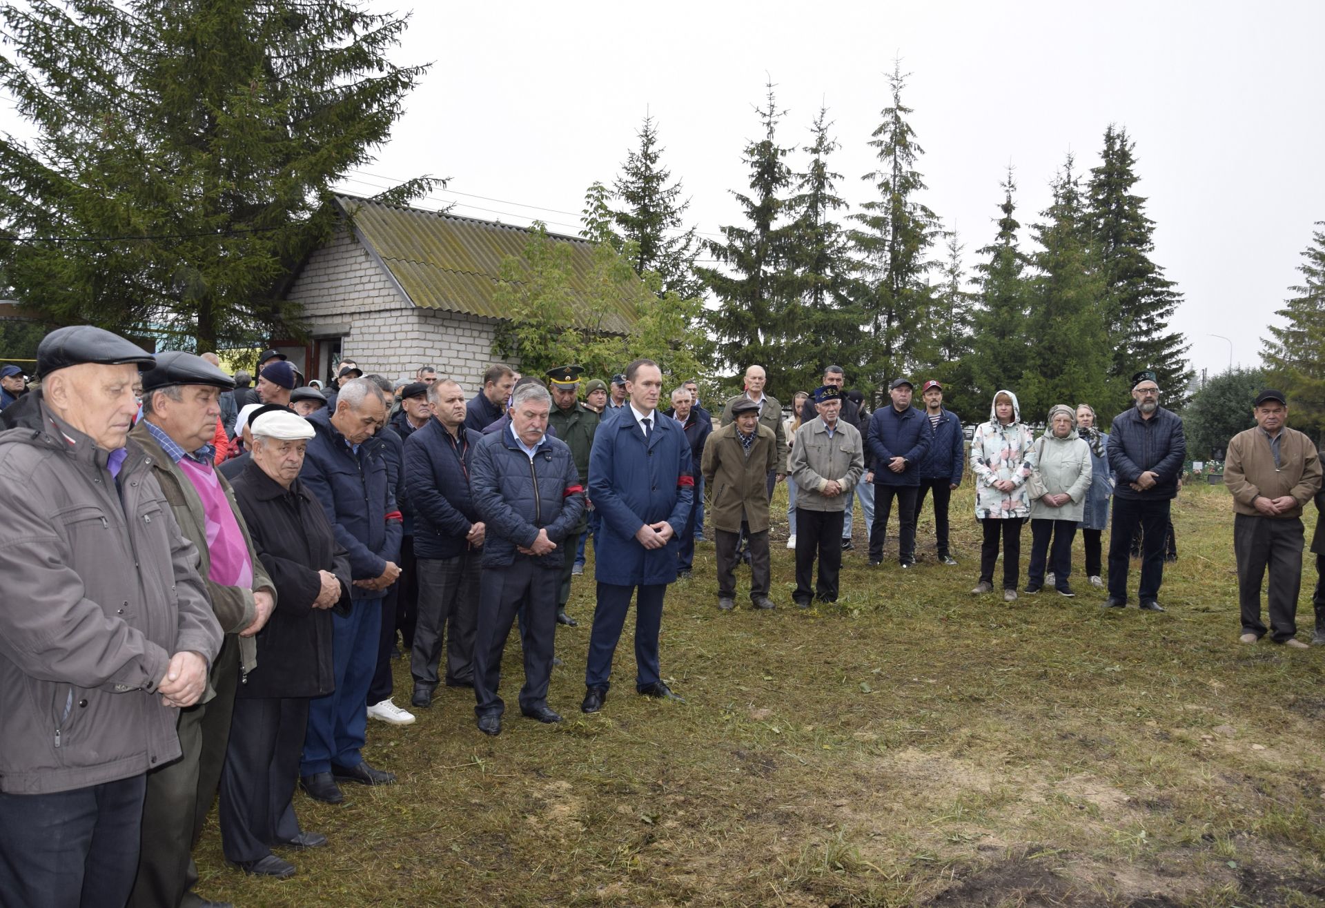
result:
[[(1224, 485), (1234, 496), (1234, 554), (1242, 643), (1265, 636), (1260, 586), (1269, 569), (1271, 640), (1305, 650), (1297, 634), (1297, 594), (1302, 582), (1302, 508), (1321, 489), (1316, 444), (1288, 428), (1288, 398), (1265, 388), (1252, 404), (1256, 427), (1228, 443)], [(1318, 630), (1318, 628), (1317, 628)]]

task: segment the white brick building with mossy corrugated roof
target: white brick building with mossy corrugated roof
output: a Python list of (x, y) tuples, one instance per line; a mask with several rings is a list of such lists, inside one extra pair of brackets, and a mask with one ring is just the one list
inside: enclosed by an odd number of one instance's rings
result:
[[(314, 251), (285, 294), (302, 308), (310, 339), (274, 345), (306, 378), (326, 382), (341, 359), (390, 379), (428, 365), (474, 391), (493, 362), (518, 366), (493, 350), (502, 317), (493, 294), (502, 260), (523, 253), (527, 229), (351, 196), (335, 201), (352, 213), (352, 228), (347, 220)], [(576, 278), (587, 276), (592, 247), (553, 239), (570, 244)], [(595, 318), (624, 331), (631, 313)]]

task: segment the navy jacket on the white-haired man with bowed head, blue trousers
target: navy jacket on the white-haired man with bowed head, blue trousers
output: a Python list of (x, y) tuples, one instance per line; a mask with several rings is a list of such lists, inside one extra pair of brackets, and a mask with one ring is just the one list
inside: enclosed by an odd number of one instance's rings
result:
[[(344, 440), (326, 410), (307, 418), (313, 439), (299, 480), (322, 505), (335, 539), (350, 554), (350, 575), (355, 581), (380, 577), (387, 562), (400, 561), (403, 517), (395, 489), (387, 476), (382, 439), (370, 437), (355, 451)], [(380, 599), (386, 590), (354, 587), (355, 599)]]

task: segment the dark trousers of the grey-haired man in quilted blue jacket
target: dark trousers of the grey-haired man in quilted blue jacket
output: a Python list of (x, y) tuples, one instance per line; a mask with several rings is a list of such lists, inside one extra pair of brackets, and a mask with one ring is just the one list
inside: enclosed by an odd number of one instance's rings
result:
[[(574, 555), (571, 555), (574, 557)], [(521, 612), (525, 650), (525, 687), (519, 708), (547, 705), (553, 676), (553, 635), (556, 634), (556, 581), (560, 567), (543, 567), (529, 555), (517, 554), (509, 567), (490, 567), (478, 581), (478, 631), (474, 638), (474, 712), (502, 714), (506, 704), (497, 696), (501, 656)]]

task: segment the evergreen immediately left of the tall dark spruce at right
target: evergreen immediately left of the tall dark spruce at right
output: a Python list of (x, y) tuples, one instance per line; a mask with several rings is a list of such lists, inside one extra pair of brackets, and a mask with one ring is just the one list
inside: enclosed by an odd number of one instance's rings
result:
[(1049, 407), (1090, 403), (1113, 408), (1124, 386), (1109, 375), (1113, 362), (1098, 301), (1101, 278), (1093, 268), (1080, 178), (1068, 154), (1053, 183), (1053, 200), (1034, 228), (1040, 251), (1030, 284), (1027, 334), (1020, 382), (1023, 416), (1045, 418)]

